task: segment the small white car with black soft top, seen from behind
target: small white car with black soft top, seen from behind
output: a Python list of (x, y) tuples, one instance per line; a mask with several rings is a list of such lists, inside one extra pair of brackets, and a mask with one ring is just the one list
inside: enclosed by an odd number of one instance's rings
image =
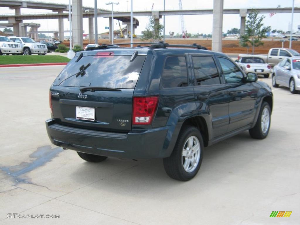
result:
[(256, 73), (268, 78), (271, 73), (271, 66), (259, 57), (244, 56), (236, 60), (236, 64), (245, 71), (245, 73)]

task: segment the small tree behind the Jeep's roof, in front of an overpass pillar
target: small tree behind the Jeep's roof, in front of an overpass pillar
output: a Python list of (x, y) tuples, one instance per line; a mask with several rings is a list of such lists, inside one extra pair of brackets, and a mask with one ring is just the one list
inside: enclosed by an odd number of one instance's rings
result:
[(152, 40), (152, 42), (158, 41), (163, 38), (163, 35), (161, 35), (163, 29), (163, 25), (161, 25), (160, 23), (155, 24), (154, 19), (150, 18), (149, 23), (146, 26), (146, 30), (142, 32), (143, 35), (141, 37), (141, 40)]

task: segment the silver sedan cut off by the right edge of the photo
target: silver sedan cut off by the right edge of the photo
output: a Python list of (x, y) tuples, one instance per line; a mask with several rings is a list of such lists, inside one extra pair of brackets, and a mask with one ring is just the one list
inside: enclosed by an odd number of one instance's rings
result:
[(290, 57), (274, 66), (272, 85), (288, 87), (292, 94), (300, 91), (300, 57)]

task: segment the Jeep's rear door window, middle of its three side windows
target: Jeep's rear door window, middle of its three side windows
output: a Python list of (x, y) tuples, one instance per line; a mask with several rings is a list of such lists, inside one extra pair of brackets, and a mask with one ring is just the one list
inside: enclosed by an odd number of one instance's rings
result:
[(193, 56), (196, 85), (220, 84), (220, 76), (212, 57)]

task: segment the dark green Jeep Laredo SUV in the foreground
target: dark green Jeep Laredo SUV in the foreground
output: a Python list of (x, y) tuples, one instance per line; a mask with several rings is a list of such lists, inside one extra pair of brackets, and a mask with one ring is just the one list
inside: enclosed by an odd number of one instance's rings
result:
[(89, 162), (163, 158), (171, 178), (187, 181), (204, 147), (247, 130), (267, 137), (271, 88), (225, 54), (167, 43), (107, 47), (77, 52), (51, 85), (54, 145)]

